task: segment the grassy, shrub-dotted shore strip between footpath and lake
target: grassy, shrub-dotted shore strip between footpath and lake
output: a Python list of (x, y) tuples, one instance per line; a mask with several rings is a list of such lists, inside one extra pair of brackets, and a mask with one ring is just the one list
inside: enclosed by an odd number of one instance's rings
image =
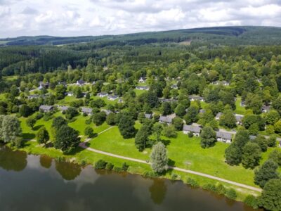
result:
[[(81, 142), (84, 143), (84, 142)], [(33, 146), (32, 146), (33, 145)], [(36, 145), (36, 146), (34, 146)], [(30, 147), (32, 146), (32, 147)], [(32, 154), (32, 155), (46, 155), (50, 158), (57, 159), (57, 160), (65, 160), (66, 162), (73, 162), (77, 163), (78, 165), (86, 166), (86, 165), (91, 165), (91, 167), (95, 168), (95, 163), (98, 160), (105, 160), (106, 162), (110, 162), (116, 167), (120, 167), (122, 163), (124, 163), (124, 160), (122, 158), (110, 158), (109, 155), (100, 155), (98, 153), (90, 152), (91, 153), (89, 156), (80, 156), (81, 155), (81, 149), (85, 150), (81, 147), (78, 147), (76, 150), (79, 151), (79, 155), (76, 153), (70, 154), (70, 155), (65, 155), (61, 151), (58, 153), (58, 150), (55, 150), (54, 148), (44, 148), (37, 144), (35, 141), (27, 141), (25, 143), (25, 146), (23, 148), (15, 148), (11, 147), (13, 151), (25, 151), (27, 154)], [(53, 151), (57, 151), (56, 153), (53, 153)], [(218, 186), (222, 184), (224, 188), (227, 190), (230, 188), (235, 189), (237, 193), (237, 198), (231, 199), (235, 200), (237, 202), (242, 202), (244, 203), (244, 198), (249, 195), (253, 196), (259, 196), (260, 192), (259, 191), (254, 191), (254, 190), (249, 190), (248, 188), (243, 188), (239, 186), (235, 186), (234, 184), (228, 184), (224, 181), (216, 181), (214, 179), (210, 178), (205, 178), (197, 174), (190, 174), (189, 172), (179, 172), (176, 169), (174, 170), (167, 170), (165, 174), (162, 175), (156, 175), (153, 174), (152, 170), (150, 169), (150, 165), (148, 165), (148, 162), (143, 161), (143, 163), (138, 162), (138, 165), (136, 165), (135, 161), (130, 161), (126, 160), (126, 164), (129, 165), (129, 170), (127, 171), (129, 174), (138, 174), (141, 175), (142, 177), (149, 177), (149, 178), (158, 178), (158, 179), (169, 179), (171, 181), (182, 181), (183, 184), (188, 185), (192, 188), (202, 188), (203, 190), (206, 191), (211, 191), (211, 193), (216, 193), (218, 196), (226, 196), (226, 194), (219, 194), (214, 190), (211, 190), (209, 187), (210, 186)], [(117, 172), (115, 170), (112, 170), (114, 172)], [(120, 172), (117, 172), (120, 173)], [(188, 180), (195, 181), (195, 184), (190, 184), (188, 183)], [(254, 188), (254, 187), (253, 187)], [(226, 196), (226, 198), (228, 198)], [(228, 198), (230, 199), (230, 198)], [(246, 204), (245, 204), (246, 205)]]

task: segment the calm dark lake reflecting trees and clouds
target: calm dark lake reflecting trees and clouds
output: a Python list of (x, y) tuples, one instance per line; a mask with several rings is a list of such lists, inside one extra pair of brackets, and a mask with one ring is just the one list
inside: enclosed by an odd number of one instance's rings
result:
[(145, 179), (0, 148), (0, 210), (252, 210), (180, 181)]

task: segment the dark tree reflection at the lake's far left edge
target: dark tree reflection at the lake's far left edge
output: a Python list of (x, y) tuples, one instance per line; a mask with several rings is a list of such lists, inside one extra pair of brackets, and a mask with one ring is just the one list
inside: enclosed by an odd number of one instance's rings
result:
[(4, 170), (20, 172), (27, 166), (27, 153), (12, 151), (11, 148), (0, 148), (0, 167)]

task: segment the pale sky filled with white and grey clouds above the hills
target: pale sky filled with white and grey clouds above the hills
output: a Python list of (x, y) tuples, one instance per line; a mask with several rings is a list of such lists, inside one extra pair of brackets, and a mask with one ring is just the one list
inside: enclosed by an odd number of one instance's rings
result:
[(281, 0), (0, 0), (0, 37), (281, 27)]

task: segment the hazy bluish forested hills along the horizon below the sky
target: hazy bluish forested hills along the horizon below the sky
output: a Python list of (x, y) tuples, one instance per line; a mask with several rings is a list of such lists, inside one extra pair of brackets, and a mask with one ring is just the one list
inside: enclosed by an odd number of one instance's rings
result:
[(164, 32), (141, 32), (135, 34), (103, 35), (86, 37), (15, 37), (0, 39), (0, 46), (21, 45), (63, 45), (75, 43), (95, 43), (100, 45), (142, 45), (151, 43), (181, 43), (191, 41), (193, 44), (281, 44), (280, 27), (203, 27), (187, 30)]

